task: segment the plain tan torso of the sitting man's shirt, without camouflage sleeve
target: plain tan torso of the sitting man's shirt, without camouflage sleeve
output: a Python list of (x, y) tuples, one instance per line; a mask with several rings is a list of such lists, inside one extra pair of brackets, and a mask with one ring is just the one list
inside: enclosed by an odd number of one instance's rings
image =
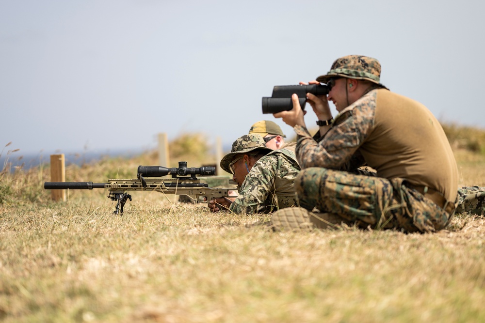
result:
[(360, 151), (378, 176), (433, 187), (454, 201), (458, 170), (452, 148), (435, 116), (419, 102), (378, 90), (373, 131)]

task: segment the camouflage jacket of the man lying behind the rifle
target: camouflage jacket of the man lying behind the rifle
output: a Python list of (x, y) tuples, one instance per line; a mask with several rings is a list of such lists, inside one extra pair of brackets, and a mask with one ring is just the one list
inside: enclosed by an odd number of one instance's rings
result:
[(270, 213), (298, 205), (293, 181), (300, 170), (296, 155), (288, 149), (274, 150), (261, 157), (246, 175), (230, 211)]

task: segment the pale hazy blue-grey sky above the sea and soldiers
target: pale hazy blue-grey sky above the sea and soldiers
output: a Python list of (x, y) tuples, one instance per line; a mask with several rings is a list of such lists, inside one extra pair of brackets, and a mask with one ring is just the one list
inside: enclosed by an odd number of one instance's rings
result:
[(263, 119), (292, 137), (261, 97), (348, 54), (379, 59), (382, 83), (441, 122), (485, 127), (484, 12), (478, 0), (0, 0), (0, 147), (145, 150), (160, 132), (230, 145)]

